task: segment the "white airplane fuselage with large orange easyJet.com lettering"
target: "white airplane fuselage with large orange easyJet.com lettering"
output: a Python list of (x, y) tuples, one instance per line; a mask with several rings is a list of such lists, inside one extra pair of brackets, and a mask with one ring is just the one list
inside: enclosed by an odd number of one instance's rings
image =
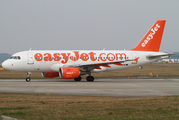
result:
[[(108, 66), (100, 66), (100, 69), (91, 71), (102, 72), (122, 70), (154, 62), (166, 56), (157, 59), (148, 59), (147, 56), (164, 54), (166, 53), (117, 50), (34, 50), (18, 52), (12, 55), (11, 59), (4, 61), (2, 65), (7, 70), (21, 72), (59, 72), (60, 67), (108, 63)], [(136, 58), (138, 61), (134, 60)], [(121, 62), (121, 64), (113, 64), (114, 62)]]

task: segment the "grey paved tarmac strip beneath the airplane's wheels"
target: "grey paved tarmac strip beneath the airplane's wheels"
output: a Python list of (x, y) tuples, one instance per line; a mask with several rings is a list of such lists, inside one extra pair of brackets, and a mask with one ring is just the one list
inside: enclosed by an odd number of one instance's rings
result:
[(0, 93), (149, 97), (179, 95), (179, 79), (0, 79)]

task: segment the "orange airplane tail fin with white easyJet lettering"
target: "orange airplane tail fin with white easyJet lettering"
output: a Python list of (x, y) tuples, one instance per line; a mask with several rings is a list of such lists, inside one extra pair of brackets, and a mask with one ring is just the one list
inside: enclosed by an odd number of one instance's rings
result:
[(139, 44), (131, 51), (159, 52), (166, 20), (157, 20)]

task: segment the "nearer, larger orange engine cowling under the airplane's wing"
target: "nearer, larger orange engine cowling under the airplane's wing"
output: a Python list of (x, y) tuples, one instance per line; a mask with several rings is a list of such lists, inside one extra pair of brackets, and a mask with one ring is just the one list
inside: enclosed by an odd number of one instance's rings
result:
[(59, 74), (62, 79), (73, 79), (79, 77), (80, 70), (77, 67), (61, 67)]

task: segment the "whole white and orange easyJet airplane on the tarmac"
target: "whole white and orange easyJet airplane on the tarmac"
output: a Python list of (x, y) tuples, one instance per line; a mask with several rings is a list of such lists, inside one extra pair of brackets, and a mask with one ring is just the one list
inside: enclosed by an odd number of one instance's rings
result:
[(139, 44), (130, 50), (29, 50), (15, 53), (2, 63), (3, 68), (26, 72), (30, 82), (31, 72), (41, 72), (43, 77), (74, 79), (82, 75), (93, 82), (91, 73), (117, 71), (141, 66), (168, 58), (159, 52), (166, 20), (157, 20)]

